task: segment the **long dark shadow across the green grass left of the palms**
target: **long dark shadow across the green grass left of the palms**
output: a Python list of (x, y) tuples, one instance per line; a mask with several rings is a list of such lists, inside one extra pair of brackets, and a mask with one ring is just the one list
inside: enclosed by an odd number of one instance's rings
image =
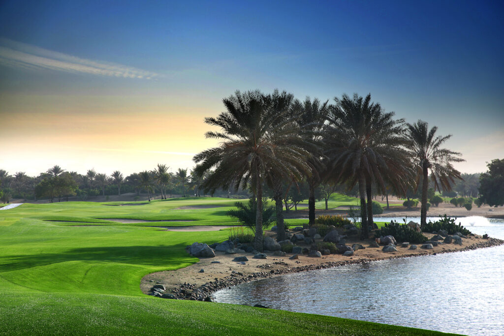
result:
[(75, 248), (61, 253), (10, 255), (0, 258), (0, 272), (49, 265), (66, 261), (119, 262), (144, 266), (178, 265), (193, 257), (185, 244), (170, 246), (116, 246)]

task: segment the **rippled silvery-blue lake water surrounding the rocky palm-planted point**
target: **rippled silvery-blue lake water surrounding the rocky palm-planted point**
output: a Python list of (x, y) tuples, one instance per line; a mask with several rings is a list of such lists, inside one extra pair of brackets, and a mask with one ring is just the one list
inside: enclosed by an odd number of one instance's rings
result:
[[(402, 222), (383, 218), (390, 220)], [(467, 217), (459, 222), (473, 233), (504, 239), (503, 220)], [(289, 274), (221, 290), (214, 298), (469, 335), (504, 335), (504, 246)]]

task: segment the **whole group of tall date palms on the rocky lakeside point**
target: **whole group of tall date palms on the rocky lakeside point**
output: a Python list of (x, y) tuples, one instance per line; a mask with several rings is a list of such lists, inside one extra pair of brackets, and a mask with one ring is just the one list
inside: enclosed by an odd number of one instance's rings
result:
[[(309, 185), (309, 224), (313, 224), (314, 190), (323, 182), (358, 186), (362, 238), (373, 225), (371, 189), (404, 194), (422, 182), (421, 224), (425, 224), (427, 185), (430, 178), (437, 189), (450, 189), (460, 178), (452, 163), (463, 161), (460, 153), (442, 148), (450, 136), (436, 136), (437, 127), (427, 122), (413, 124), (394, 119), (371, 96), (344, 94), (333, 104), (292, 94), (259, 90), (223, 99), (225, 112), (205, 122), (220, 128), (207, 138), (220, 146), (194, 157), (195, 172), (207, 174), (202, 188), (235, 188), (247, 185), (257, 200), (255, 248), (263, 248), (262, 198), (266, 184), (274, 190), (278, 240), (285, 230), (281, 197), (285, 181), (305, 179)], [(366, 204), (367, 197), (367, 204)], [(279, 205), (280, 202), (280, 205)], [(280, 217), (279, 217), (280, 215)]]

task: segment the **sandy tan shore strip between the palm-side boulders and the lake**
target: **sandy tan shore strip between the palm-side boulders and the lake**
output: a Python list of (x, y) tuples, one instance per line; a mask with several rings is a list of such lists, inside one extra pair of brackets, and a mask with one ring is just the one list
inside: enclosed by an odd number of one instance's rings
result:
[[(266, 234), (267, 236), (274, 235), (273, 232), (267, 232)], [(424, 235), (429, 239), (434, 236), (429, 233), (424, 233)], [(164, 293), (173, 295), (170, 298), (204, 300), (219, 289), (288, 273), (321, 270), (323, 268), (393, 258), (473, 250), (504, 244), (502, 240), (483, 239), (478, 235), (468, 236), (467, 239), (462, 240), (462, 245), (439, 244), (431, 250), (421, 249), (421, 244), (418, 244), (416, 250), (410, 250), (400, 247), (400, 242), (398, 242), (397, 252), (383, 252), (382, 247), (369, 247), (370, 241), (363, 242), (358, 240), (357, 237), (355, 239), (347, 238), (347, 245), (358, 243), (365, 246), (365, 249), (355, 251), (351, 257), (342, 254), (331, 254), (317, 258), (299, 254), (297, 260), (289, 259), (293, 255), (292, 253), (287, 253), (283, 257), (267, 253), (267, 259), (254, 259), (253, 253), (225, 254), (224, 252), (216, 252), (214, 258), (201, 258), (199, 262), (179, 270), (146, 275), (141, 281), (140, 289), (144, 294), (149, 294), (154, 285), (161, 284), (166, 288)], [(299, 246), (309, 247), (309, 245), (305, 246), (303, 244), (299, 244)], [(242, 255), (248, 258), (245, 264), (232, 261), (234, 257)], [(212, 263), (212, 261), (219, 261), (219, 263)], [(204, 270), (204, 272), (201, 272), (201, 270)]]

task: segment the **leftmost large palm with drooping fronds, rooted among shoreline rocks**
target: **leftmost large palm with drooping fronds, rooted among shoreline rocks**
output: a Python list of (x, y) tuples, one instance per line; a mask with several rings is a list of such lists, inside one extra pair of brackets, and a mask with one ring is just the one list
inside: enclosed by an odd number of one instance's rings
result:
[(207, 138), (222, 140), (219, 147), (211, 148), (194, 157), (197, 173), (210, 172), (204, 188), (214, 192), (227, 189), (231, 183), (251, 184), (257, 199), (256, 232), (254, 245), (263, 250), (263, 183), (273, 174), (282, 178), (300, 179), (308, 170), (306, 152), (299, 137), (296, 118), (288, 118), (289, 110), (274, 108), (277, 99), (286, 99), (287, 93), (265, 96), (260, 91), (240, 93), (223, 99), (226, 112), (218, 117), (205, 118), (205, 122), (218, 126), (221, 131), (209, 131)]

